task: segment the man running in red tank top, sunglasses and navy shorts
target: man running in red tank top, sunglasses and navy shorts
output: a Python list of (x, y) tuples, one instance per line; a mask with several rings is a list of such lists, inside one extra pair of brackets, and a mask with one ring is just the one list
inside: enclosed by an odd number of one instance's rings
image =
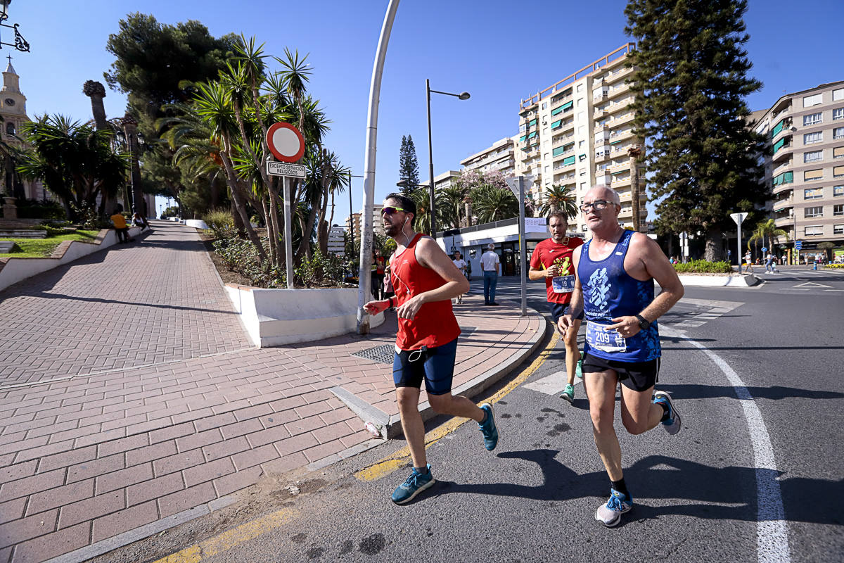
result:
[(419, 414), (423, 381), (431, 409), (475, 420), (484, 436), (484, 447), (490, 452), (498, 443), (492, 405), (484, 403), (479, 408), (468, 398), (452, 395), (460, 334), (452, 298), (466, 293), (468, 281), (434, 239), (414, 231), (415, 218), (416, 204), (412, 199), (391, 193), (384, 200), (381, 220), (387, 236), (397, 245), (390, 257), (396, 297), (370, 301), (364, 306), (370, 315), (392, 306), (393, 300), (398, 306), (392, 380), (414, 468), (408, 479), (393, 491), (392, 501), (396, 504), (413, 500), (435, 482), (425, 457), (425, 425)]

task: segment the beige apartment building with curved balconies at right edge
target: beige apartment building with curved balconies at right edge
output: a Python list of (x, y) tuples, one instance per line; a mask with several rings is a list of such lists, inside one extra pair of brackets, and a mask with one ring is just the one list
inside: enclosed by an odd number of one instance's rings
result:
[(783, 95), (753, 117), (768, 138), (761, 158), (776, 226), (807, 250), (844, 246), (844, 81)]

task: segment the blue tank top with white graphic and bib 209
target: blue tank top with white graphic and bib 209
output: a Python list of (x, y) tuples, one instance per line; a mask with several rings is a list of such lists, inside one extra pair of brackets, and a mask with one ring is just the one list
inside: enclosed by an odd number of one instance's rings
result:
[(597, 261), (589, 258), (592, 241), (587, 241), (577, 264), (587, 321), (584, 350), (604, 360), (650, 361), (662, 353), (656, 321), (628, 338), (616, 330), (604, 329), (614, 324), (610, 319), (641, 313), (653, 300), (653, 279), (639, 281), (625, 272), (625, 255), (632, 235), (632, 230), (625, 230), (609, 257)]

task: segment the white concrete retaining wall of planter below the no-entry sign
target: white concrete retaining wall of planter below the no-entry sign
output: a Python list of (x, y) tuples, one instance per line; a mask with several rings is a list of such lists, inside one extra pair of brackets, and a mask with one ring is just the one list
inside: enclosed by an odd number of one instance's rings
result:
[[(252, 343), (259, 348), (311, 342), (357, 330), (358, 290), (263, 290), (225, 284)], [(384, 314), (371, 317), (371, 327)]]

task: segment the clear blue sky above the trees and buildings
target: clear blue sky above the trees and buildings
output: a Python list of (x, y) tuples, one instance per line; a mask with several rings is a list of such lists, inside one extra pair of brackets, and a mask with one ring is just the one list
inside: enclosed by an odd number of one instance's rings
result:
[[(428, 177), (425, 78), (432, 89), (472, 95), (466, 101), (431, 99), (435, 174), (459, 170), (463, 158), (517, 132), (522, 98), (630, 41), (625, 4), (403, 0), (381, 84), (376, 202), (396, 189), (402, 135), (413, 136), (419, 176)], [(105, 84), (103, 73), (114, 60), (106, 41), (126, 14), (153, 14), (167, 24), (197, 19), (215, 36), (254, 35), (273, 55), (298, 49), (310, 53), (311, 94), (333, 121), (327, 147), (362, 174), (372, 63), (386, 10), (387, 0), (14, 0), (9, 23), (20, 24), (31, 52), (4, 46), (0, 56), (13, 56), (30, 117), (62, 113), (87, 121), (90, 102), (82, 84)], [(750, 0), (751, 72), (765, 84), (750, 96), (750, 109), (771, 106), (784, 92), (844, 79), (842, 20), (841, 0)], [(11, 42), (8, 31), (3, 29), (3, 41)], [(105, 104), (108, 116), (122, 116), (126, 98), (107, 90)], [(359, 209), (362, 178), (354, 178), (352, 189)], [(337, 205), (334, 222), (342, 223), (348, 195)]]

